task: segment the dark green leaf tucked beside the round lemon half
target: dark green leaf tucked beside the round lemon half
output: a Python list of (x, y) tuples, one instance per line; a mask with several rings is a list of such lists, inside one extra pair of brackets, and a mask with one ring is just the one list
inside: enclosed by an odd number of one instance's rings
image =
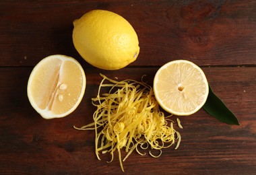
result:
[(203, 109), (218, 120), (229, 125), (240, 125), (236, 116), (226, 107), (224, 102), (218, 98), (209, 85), (209, 95)]

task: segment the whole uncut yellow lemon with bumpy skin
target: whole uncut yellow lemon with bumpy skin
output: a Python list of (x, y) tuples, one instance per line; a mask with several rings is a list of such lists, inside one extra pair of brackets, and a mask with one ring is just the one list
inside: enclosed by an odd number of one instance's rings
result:
[(117, 13), (92, 10), (73, 22), (73, 44), (88, 63), (106, 70), (129, 65), (139, 55), (131, 24)]

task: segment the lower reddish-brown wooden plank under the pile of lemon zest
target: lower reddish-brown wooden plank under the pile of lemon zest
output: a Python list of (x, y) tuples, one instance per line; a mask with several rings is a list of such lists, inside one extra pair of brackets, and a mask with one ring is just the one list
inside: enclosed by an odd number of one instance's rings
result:
[[(82, 103), (65, 118), (45, 120), (30, 106), (26, 83), (32, 68), (0, 69), (0, 173), (100, 174), (121, 173), (117, 154), (94, 153), (94, 131), (77, 131), (92, 122), (90, 99), (98, 92), (99, 73), (110, 78), (135, 79), (142, 75), (152, 85), (158, 67), (101, 71), (85, 68), (86, 93)], [(183, 129), (179, 149), (162, 150), (159, 158), (132, 153), (123, 162), (127, 174), (255, 174), (256, 172), (256, 68), (203, 67), (216, 94), (236, 114), (241, 126), (230, 126), (205, 111), (180, 116)], [(172, 116), (176, 120), (177, 116)], [(123, 156), (125, 152), (122, 152)], [(158, 153), (158, 151), (153, 151)]]

